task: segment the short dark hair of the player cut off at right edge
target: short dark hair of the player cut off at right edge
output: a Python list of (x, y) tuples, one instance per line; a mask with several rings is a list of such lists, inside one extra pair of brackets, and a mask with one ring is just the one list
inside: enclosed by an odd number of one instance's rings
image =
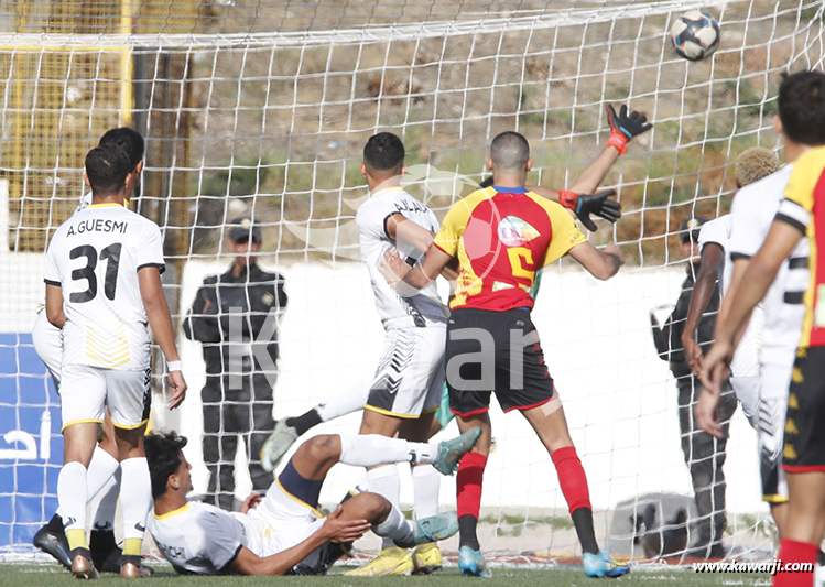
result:
[(789, 75), (779, 87), (778, 105), (782, 131), (789, 139), (812, 146), (825, 144), (825, 74)]

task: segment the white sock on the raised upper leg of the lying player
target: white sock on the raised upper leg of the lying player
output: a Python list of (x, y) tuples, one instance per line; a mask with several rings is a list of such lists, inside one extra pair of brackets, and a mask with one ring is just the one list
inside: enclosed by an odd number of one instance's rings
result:
[(340, 463), (356, 467), (374, 467), (384, 463), (432, 464), (438, 455), (438, 445), (410, 443), (401, 438), (388, 438), (380, 434), (341, 434)]

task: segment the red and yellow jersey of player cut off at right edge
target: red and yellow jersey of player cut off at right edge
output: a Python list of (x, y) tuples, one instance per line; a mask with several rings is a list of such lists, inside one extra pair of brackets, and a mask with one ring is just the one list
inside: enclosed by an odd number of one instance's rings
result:
[(808, 237), (811, 282), (803, 301), (805, 320), (800, 347), (825, 346), (825, 146), (811, 149), (796, 160), (777, 219)]

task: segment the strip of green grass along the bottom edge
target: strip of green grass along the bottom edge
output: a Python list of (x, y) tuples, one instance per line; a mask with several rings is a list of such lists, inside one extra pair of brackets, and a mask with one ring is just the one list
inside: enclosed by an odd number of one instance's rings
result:
[[(344, 569), (335, 567), (333, 574), (327, 577), (193, 577), (175, 575), (169, 567), (158, 567), (152, 577), (151, 585), (162, 587), (174, 585), (175, 587), (229, 587), (242, 585), (243, 587), (271, 586), (273, 580), (278, 585), (286, 587), (368, 587), (381, 585), (382, 587), (467, 587), (470, 579), (458, 574), (455, 567), (444, 568), (437, 575), (430, 577), (346, 577), (340, 573)], [(493, 569), (495, 585), (503, 587), (556, 587), (556, 586), (584, 586), (605, 585), (605, 579), (589, 579), (584, 576), (580, 568), (547, 568), (547, 569)], [(716, 574), (701, 575), (693, 573), (690, 568), (680, 569), (651, 569), (637, 570), (627, 577), (610, 581), (610, 585), (652, 585), (665, 583), (670, 585), (684, 585), (687, 587), (703, 587), (706, 585), (737, 585), (737, 586), (767, 586), (770, 585), (769, 575), (757, 574)], [(123, 579), (116, 575), (104, 575), (104, 581), (118, 581)], [(77, 585), (72, 580), (68, 573), (58, 568), (57, 565), (0, 565), (0, 585), (3, 587), (29, 587), (37, 585), (47, 587), (52, 585)], [(485, 585), (488, 585), (485, 583)], [(493, 585), (490, 583), (489, 585)]]

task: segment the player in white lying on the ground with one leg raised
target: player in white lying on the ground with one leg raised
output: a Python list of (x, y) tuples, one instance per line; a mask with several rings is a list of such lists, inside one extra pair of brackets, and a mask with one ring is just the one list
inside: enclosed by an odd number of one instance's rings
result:
[[(328, 517), (318, 496), (336, 463), (357, 467), (379, 463), (430, 463), (453, 475), (473, 448), (480, 428), (441, 444), (409, 443), (378, 435), (322, 435), (302, 444), (267, 491), (252, 494), (239, 513), (189, 501), (191, 465), (186, 438), (174, 432), (145, 437), (154, 510), (148, 528), (176, 570), (199, 575), (323, 575), (346, 544), (367, 530), (392, 537), (402, 547), (434, 542), (458, 532), (455, 512), (409, 521), (376, 493), (347, 498)], [(351, 493), (350, 493), (351, 494)]]

